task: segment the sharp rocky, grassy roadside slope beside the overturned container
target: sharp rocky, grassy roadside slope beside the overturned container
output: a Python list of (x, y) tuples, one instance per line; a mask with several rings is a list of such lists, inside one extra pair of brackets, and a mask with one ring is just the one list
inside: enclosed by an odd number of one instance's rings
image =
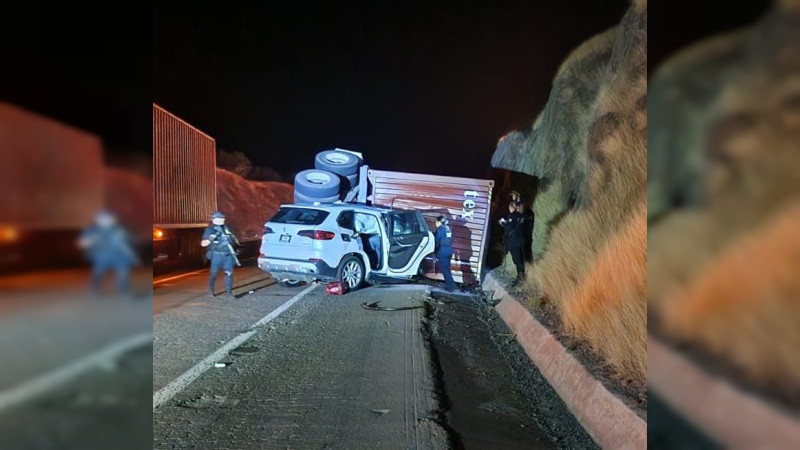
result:
[[(522, 295), (642, 392), (647, 371), (647, 2), (564, 61), (544, 110), (492, 166), (538, 179)], [(504, 271), (514, 272), (511, 267)]]

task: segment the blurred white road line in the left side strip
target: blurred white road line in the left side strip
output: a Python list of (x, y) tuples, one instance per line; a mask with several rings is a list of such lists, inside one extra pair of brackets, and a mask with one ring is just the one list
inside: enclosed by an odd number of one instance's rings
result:
[(84, 372), (114, 360), (130, 350), (152, 342), (153, 333), (151, 331), (140, 333), (111, 344), (98, 352), (87, 355), (75, 362), (62, 366), (19, 386), (0, 391), (0, 413), (65, 384)]

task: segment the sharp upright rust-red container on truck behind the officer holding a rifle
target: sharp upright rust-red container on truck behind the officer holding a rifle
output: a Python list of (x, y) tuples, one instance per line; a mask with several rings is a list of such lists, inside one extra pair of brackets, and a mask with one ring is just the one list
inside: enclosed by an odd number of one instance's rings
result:
[(216, 141), (153, 104), (153, 256), (202, 264), (217, 207)]

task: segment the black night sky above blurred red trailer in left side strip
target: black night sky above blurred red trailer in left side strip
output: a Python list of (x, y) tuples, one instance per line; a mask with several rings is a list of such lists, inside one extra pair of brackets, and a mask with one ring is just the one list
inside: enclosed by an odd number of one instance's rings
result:
[[(29, 0), (6, 5), (0, 100), (152, 154), (152, 9)], [(97, 17), (95, 17), (97, 16)]]

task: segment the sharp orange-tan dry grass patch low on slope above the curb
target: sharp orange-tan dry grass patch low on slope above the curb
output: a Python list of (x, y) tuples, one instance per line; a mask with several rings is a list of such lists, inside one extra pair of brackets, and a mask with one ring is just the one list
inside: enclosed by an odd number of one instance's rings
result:
[(598, 350), (618, 373), (647, 376), (647, 207), (608, 240), (561, 302), (566, 331)]

